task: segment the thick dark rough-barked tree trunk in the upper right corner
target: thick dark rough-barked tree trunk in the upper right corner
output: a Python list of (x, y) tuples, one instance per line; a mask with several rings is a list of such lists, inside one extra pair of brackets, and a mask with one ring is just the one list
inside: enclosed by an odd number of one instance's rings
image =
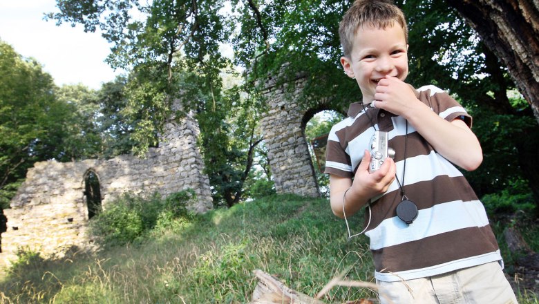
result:
[(539, 123), (539, 2), (448, 0), (507, 66)]

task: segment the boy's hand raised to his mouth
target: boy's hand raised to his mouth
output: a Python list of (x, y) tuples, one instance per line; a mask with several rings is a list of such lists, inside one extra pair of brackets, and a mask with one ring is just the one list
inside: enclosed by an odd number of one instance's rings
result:
[(378, 82), (375, 100), (375, 107), (383, 108), (405, 118), (407, 110), (419, 102), (408, 84), (397, 77), (389, 75)]

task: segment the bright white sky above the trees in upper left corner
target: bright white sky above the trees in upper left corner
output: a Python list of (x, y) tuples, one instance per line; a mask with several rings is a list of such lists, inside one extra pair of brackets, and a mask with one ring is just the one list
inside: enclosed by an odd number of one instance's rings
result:
[(57, 86), (99, 89), (123, 72), (104, 62), (110, 46), (100, 34), (66, 23), (56, 26), (43, 19), (46, 12), (58, 12), (55, 0), (0, 0), (0, 39), (19, 55), (36, 59)]

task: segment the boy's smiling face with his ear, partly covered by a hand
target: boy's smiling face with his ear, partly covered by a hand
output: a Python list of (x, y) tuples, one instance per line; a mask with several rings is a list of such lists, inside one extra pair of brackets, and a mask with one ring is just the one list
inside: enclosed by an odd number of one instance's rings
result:
[(341, 57), (348, 77), (356, 79), (363, 104), (374, 99), (376, 86), (387, 75), (404, 81), (408, 75), (408, 46), (404, 30), (395, 22), (385, 29), (360, 26), (354, 37), (350, 57)]

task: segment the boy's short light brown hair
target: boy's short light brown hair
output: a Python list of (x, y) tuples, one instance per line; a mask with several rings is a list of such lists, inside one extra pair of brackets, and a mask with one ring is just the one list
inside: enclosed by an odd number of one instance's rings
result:
[(345, 57), (350, 57), (354, 37), (360, 26), (373, 26), (387, 28), (397, 21), (404, 30), (406, 44), (408, 44), (408, 26), (406, 17), (400, 8), (390, 0), (356, 0), (346, 11), (339, 24), (339, 37)]

